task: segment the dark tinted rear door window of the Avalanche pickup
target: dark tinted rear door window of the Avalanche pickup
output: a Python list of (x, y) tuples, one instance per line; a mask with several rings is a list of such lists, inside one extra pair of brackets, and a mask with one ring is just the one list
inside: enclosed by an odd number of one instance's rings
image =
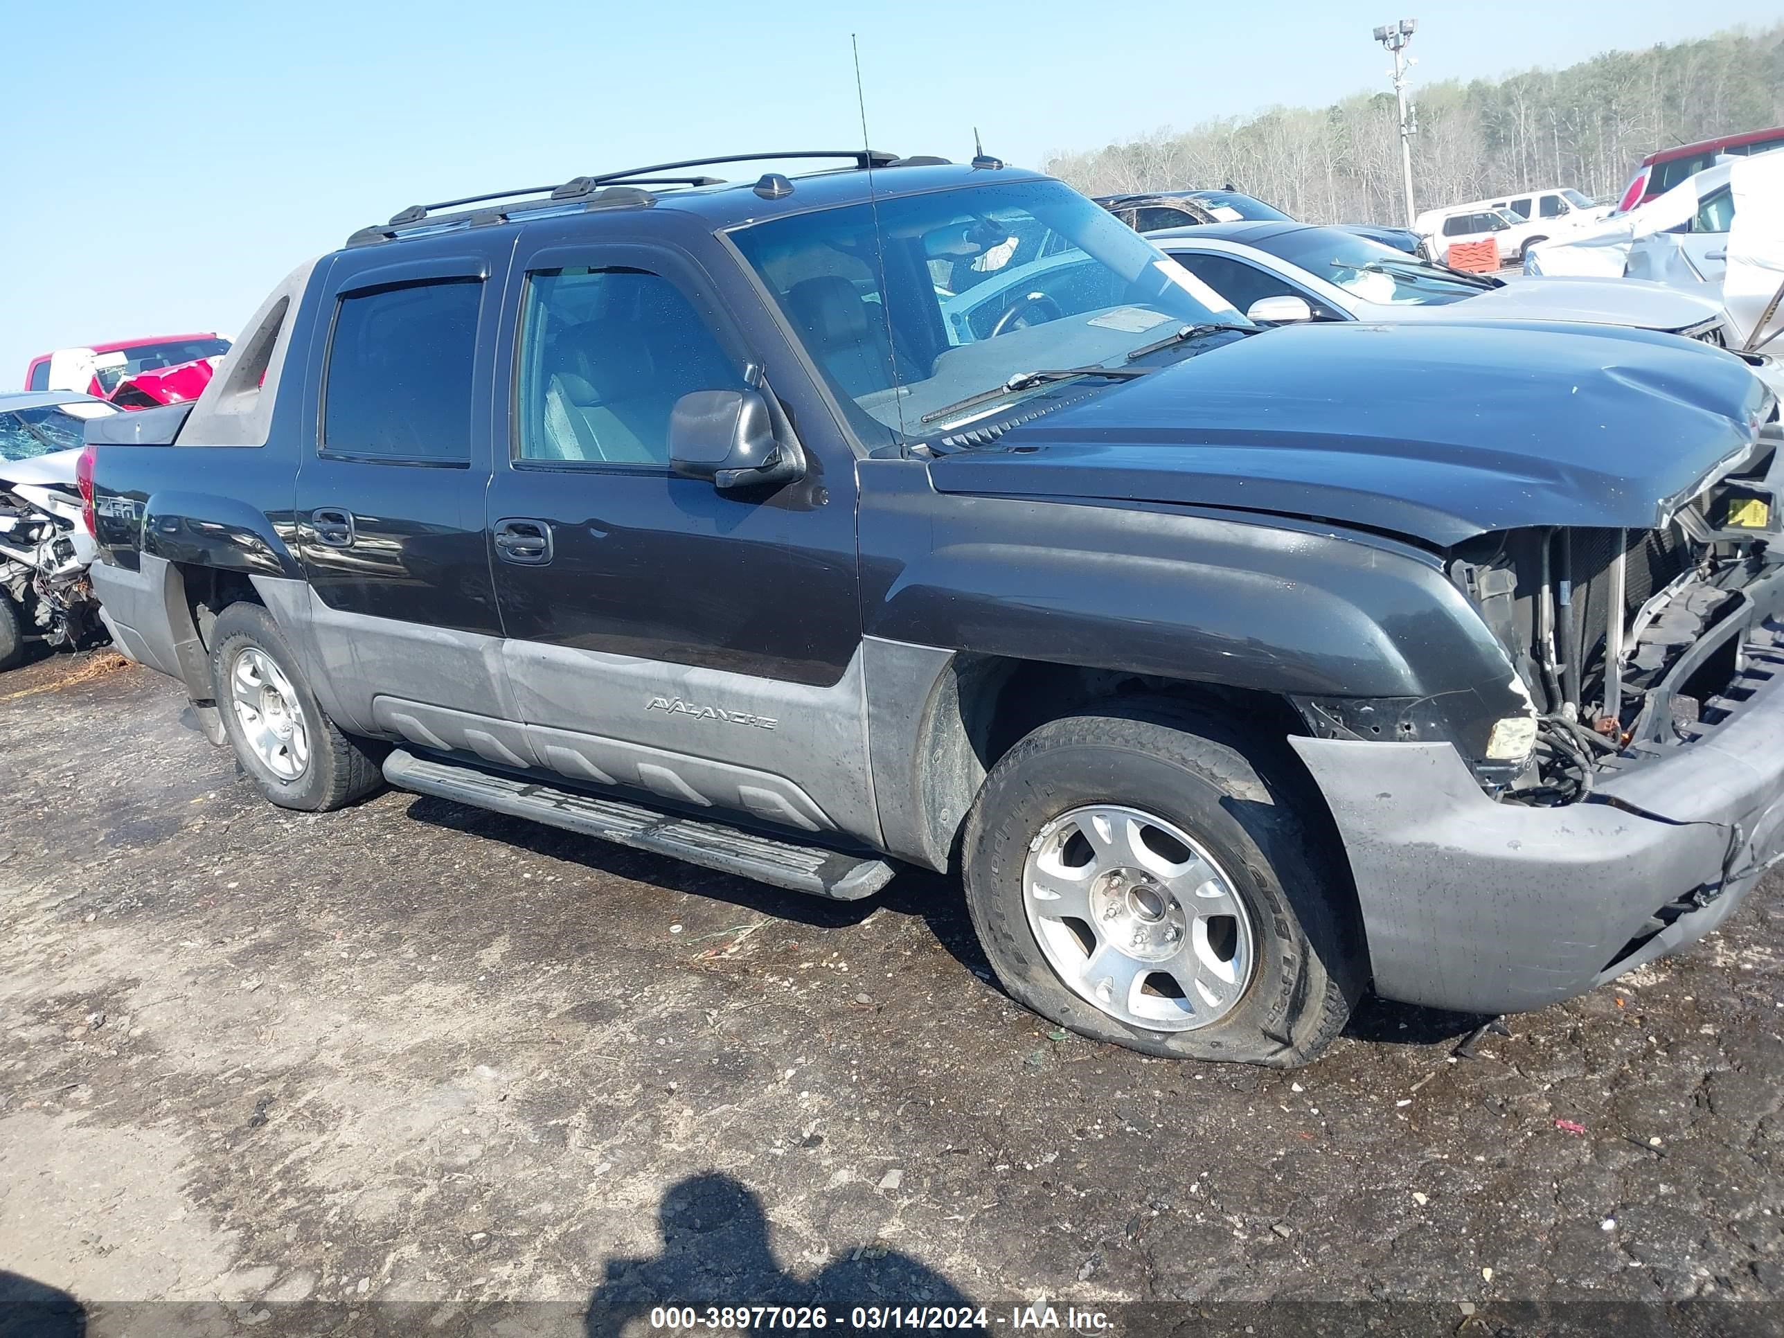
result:
[(321, 448), (384, 460), (471, 458), (471, 373), (483, 284), (348, 293), (323, 380)]

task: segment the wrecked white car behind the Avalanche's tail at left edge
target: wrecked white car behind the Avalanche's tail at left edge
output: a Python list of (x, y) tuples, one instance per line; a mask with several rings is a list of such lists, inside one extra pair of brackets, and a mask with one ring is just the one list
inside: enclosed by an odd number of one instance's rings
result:
[(0, 669), (32, 639), (52, 649), (103, 640), (75, 467), (87, 421), (116, 412), (68, 391), (0, 394)]

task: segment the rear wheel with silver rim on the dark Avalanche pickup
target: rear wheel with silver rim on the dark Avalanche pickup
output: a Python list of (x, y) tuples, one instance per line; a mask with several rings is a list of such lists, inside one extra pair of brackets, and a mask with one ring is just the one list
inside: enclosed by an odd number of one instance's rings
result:
[(260, 605), (235, 603), (218, 614), (211, 690), (235, 760), (280, 808), (325, 814), (378, 789), (376, 760), (323, 712)]

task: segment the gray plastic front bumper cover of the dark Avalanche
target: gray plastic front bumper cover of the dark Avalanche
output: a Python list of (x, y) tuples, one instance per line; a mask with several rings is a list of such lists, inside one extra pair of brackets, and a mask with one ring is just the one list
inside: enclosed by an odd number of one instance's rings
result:
[(1292, 739), (1343, 837), (1375, 992), (1527, 1012), (1714, 929), (1784, 849), (1784, 653), (1750, 644), (1718, 705), (1704, 737), (1563, 808), (1491, 801), (1449, 744)]

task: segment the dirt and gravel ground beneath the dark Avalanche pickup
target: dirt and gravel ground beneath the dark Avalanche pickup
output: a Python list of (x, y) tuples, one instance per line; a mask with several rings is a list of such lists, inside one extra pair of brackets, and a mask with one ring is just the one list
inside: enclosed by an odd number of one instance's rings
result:
[(1775, 1331), (1775, 878), (1479, 1060), (1370, 1004), (1277, 1074), (1054, 1033), (947, 880), (831, 904), (409, 794), (280, 812), (109, 653), (0, 676), (0, 1334)]

